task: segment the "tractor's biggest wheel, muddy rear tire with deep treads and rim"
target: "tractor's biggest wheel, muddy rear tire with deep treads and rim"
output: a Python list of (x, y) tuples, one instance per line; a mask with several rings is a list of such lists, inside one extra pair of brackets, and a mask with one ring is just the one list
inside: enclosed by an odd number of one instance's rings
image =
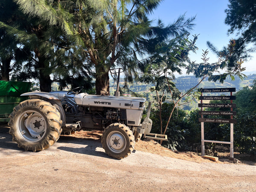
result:
[(14, 107), (9, 133), (25, 151), (42, 151), (60, 137), (62, 121), (56, 107), (40, 99), (29, 99)]

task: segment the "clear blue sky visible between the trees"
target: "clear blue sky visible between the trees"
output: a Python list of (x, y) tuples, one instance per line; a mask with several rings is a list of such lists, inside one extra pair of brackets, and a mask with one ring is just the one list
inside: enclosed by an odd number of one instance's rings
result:
[[(165, 24), (172, 23), (179, 15), (186, 13), (186, 17), (196, 16), (195, 24), (191, 34), (200, 34), (196, 46), (199, 48), (196, 54), (191, 54), (191, 59), (196, 60), (197, 63), (202, 62), (202, 49), (206, 50), (206, 42), (210, 41), (218, 49), (226, 46), (231, 38), (235, 38), (235, 34), (227, 35), (229, 26), (224, 24), (228, 0), (165, 0), (151, 15), (151, 19), (158, 19), (164, 21)], [(191, 37), (192, 38), (192, 37)], [(256, 71), (256, 65), (253, 57), (250, 61), (243, 63), (246, 71)], [(218, 58), (209, 52), (209, 63), (215, 62)]]

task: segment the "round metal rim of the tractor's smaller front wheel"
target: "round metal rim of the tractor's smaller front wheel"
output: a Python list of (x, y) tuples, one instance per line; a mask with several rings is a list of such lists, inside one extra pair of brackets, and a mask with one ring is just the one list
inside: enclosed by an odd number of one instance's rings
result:
[(107, 135), (107, 146), (110, 151), (120, 153), (125, 149), (126, 139), (121, 132), (112, 131)]

